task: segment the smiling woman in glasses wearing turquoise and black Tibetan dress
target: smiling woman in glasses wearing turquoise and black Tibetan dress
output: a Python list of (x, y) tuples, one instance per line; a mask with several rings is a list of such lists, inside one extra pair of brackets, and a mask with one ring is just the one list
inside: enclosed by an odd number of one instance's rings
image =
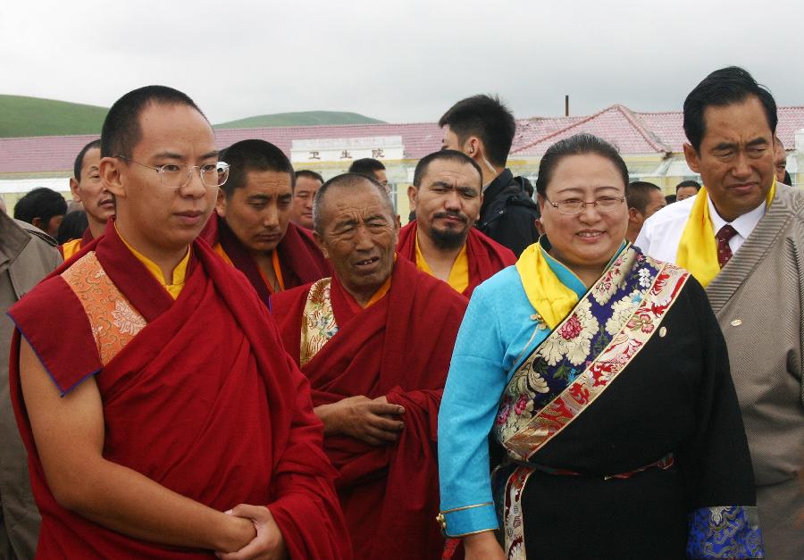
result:
[(551, 146), (545, 235), (473, 293), (439, 414), (466, 558), (763, 557), (723, 335), (688, 272), (624, 241), (627, 181), (599, 138)]

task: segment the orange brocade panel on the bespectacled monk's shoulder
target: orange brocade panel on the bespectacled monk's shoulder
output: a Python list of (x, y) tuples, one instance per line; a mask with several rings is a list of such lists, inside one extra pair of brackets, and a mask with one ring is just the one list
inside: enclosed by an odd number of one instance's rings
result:
[(62, 272), (62, 278), (87, 313), (101, 364), (108, 364), (145, 328), (145, 318), (106, 275), (95, 251)]

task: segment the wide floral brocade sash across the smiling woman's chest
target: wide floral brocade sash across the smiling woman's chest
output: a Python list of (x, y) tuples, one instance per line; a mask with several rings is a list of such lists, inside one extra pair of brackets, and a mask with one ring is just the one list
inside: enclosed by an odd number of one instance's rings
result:
[(582, 414), (657, 332), (688, 278), (624, 249), (508, 382), (493, 428), (508, 456), (526, 463)]

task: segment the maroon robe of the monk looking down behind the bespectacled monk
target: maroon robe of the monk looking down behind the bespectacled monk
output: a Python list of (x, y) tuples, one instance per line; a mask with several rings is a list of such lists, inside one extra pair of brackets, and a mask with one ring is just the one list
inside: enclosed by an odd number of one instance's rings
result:
[[(255, 288), (257, 295), (268, 305), (271, 292), (265, 284), (263, 275), (257, 268), (254, 259), (248, 254), (246, 247), (240, 243), (237, 236), (217, 213), (206, 223), (204, 231), (201, 232), (210, 247), (221, 244), (223, 251), (229, 256), (231, 263), (243, 274)], [(282, 281), (285, 289), (296, 288), (309, 282), (330, 276), (332, 267), (324, 256), (321, 249), (315, 245), (313, 234), (304, 228), (299, 228), (296, 224), (289, 223), (288, 230), (276, 246), (277, 255), (281, 266)]]

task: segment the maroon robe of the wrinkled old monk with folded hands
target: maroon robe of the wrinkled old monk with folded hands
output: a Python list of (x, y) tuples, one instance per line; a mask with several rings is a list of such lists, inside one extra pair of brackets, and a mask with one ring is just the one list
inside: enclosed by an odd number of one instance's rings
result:
[[(310, 287), (272, 297), (282, 340), (299, 359), (302, 313)], [(449, 359), (466, 299), (398, 259), (389, 293), (365, 309), (332, 279), (339, 331), (302, 372), (314, 405), (363, 395), (405, 407), (397, 442), (374, 447), (348, 436), (324, 439), (338, 468), (338, 494), (356, 558), (440, 558), (436, 429)], [(357, 307), (357, 310), (356, 310)]]

